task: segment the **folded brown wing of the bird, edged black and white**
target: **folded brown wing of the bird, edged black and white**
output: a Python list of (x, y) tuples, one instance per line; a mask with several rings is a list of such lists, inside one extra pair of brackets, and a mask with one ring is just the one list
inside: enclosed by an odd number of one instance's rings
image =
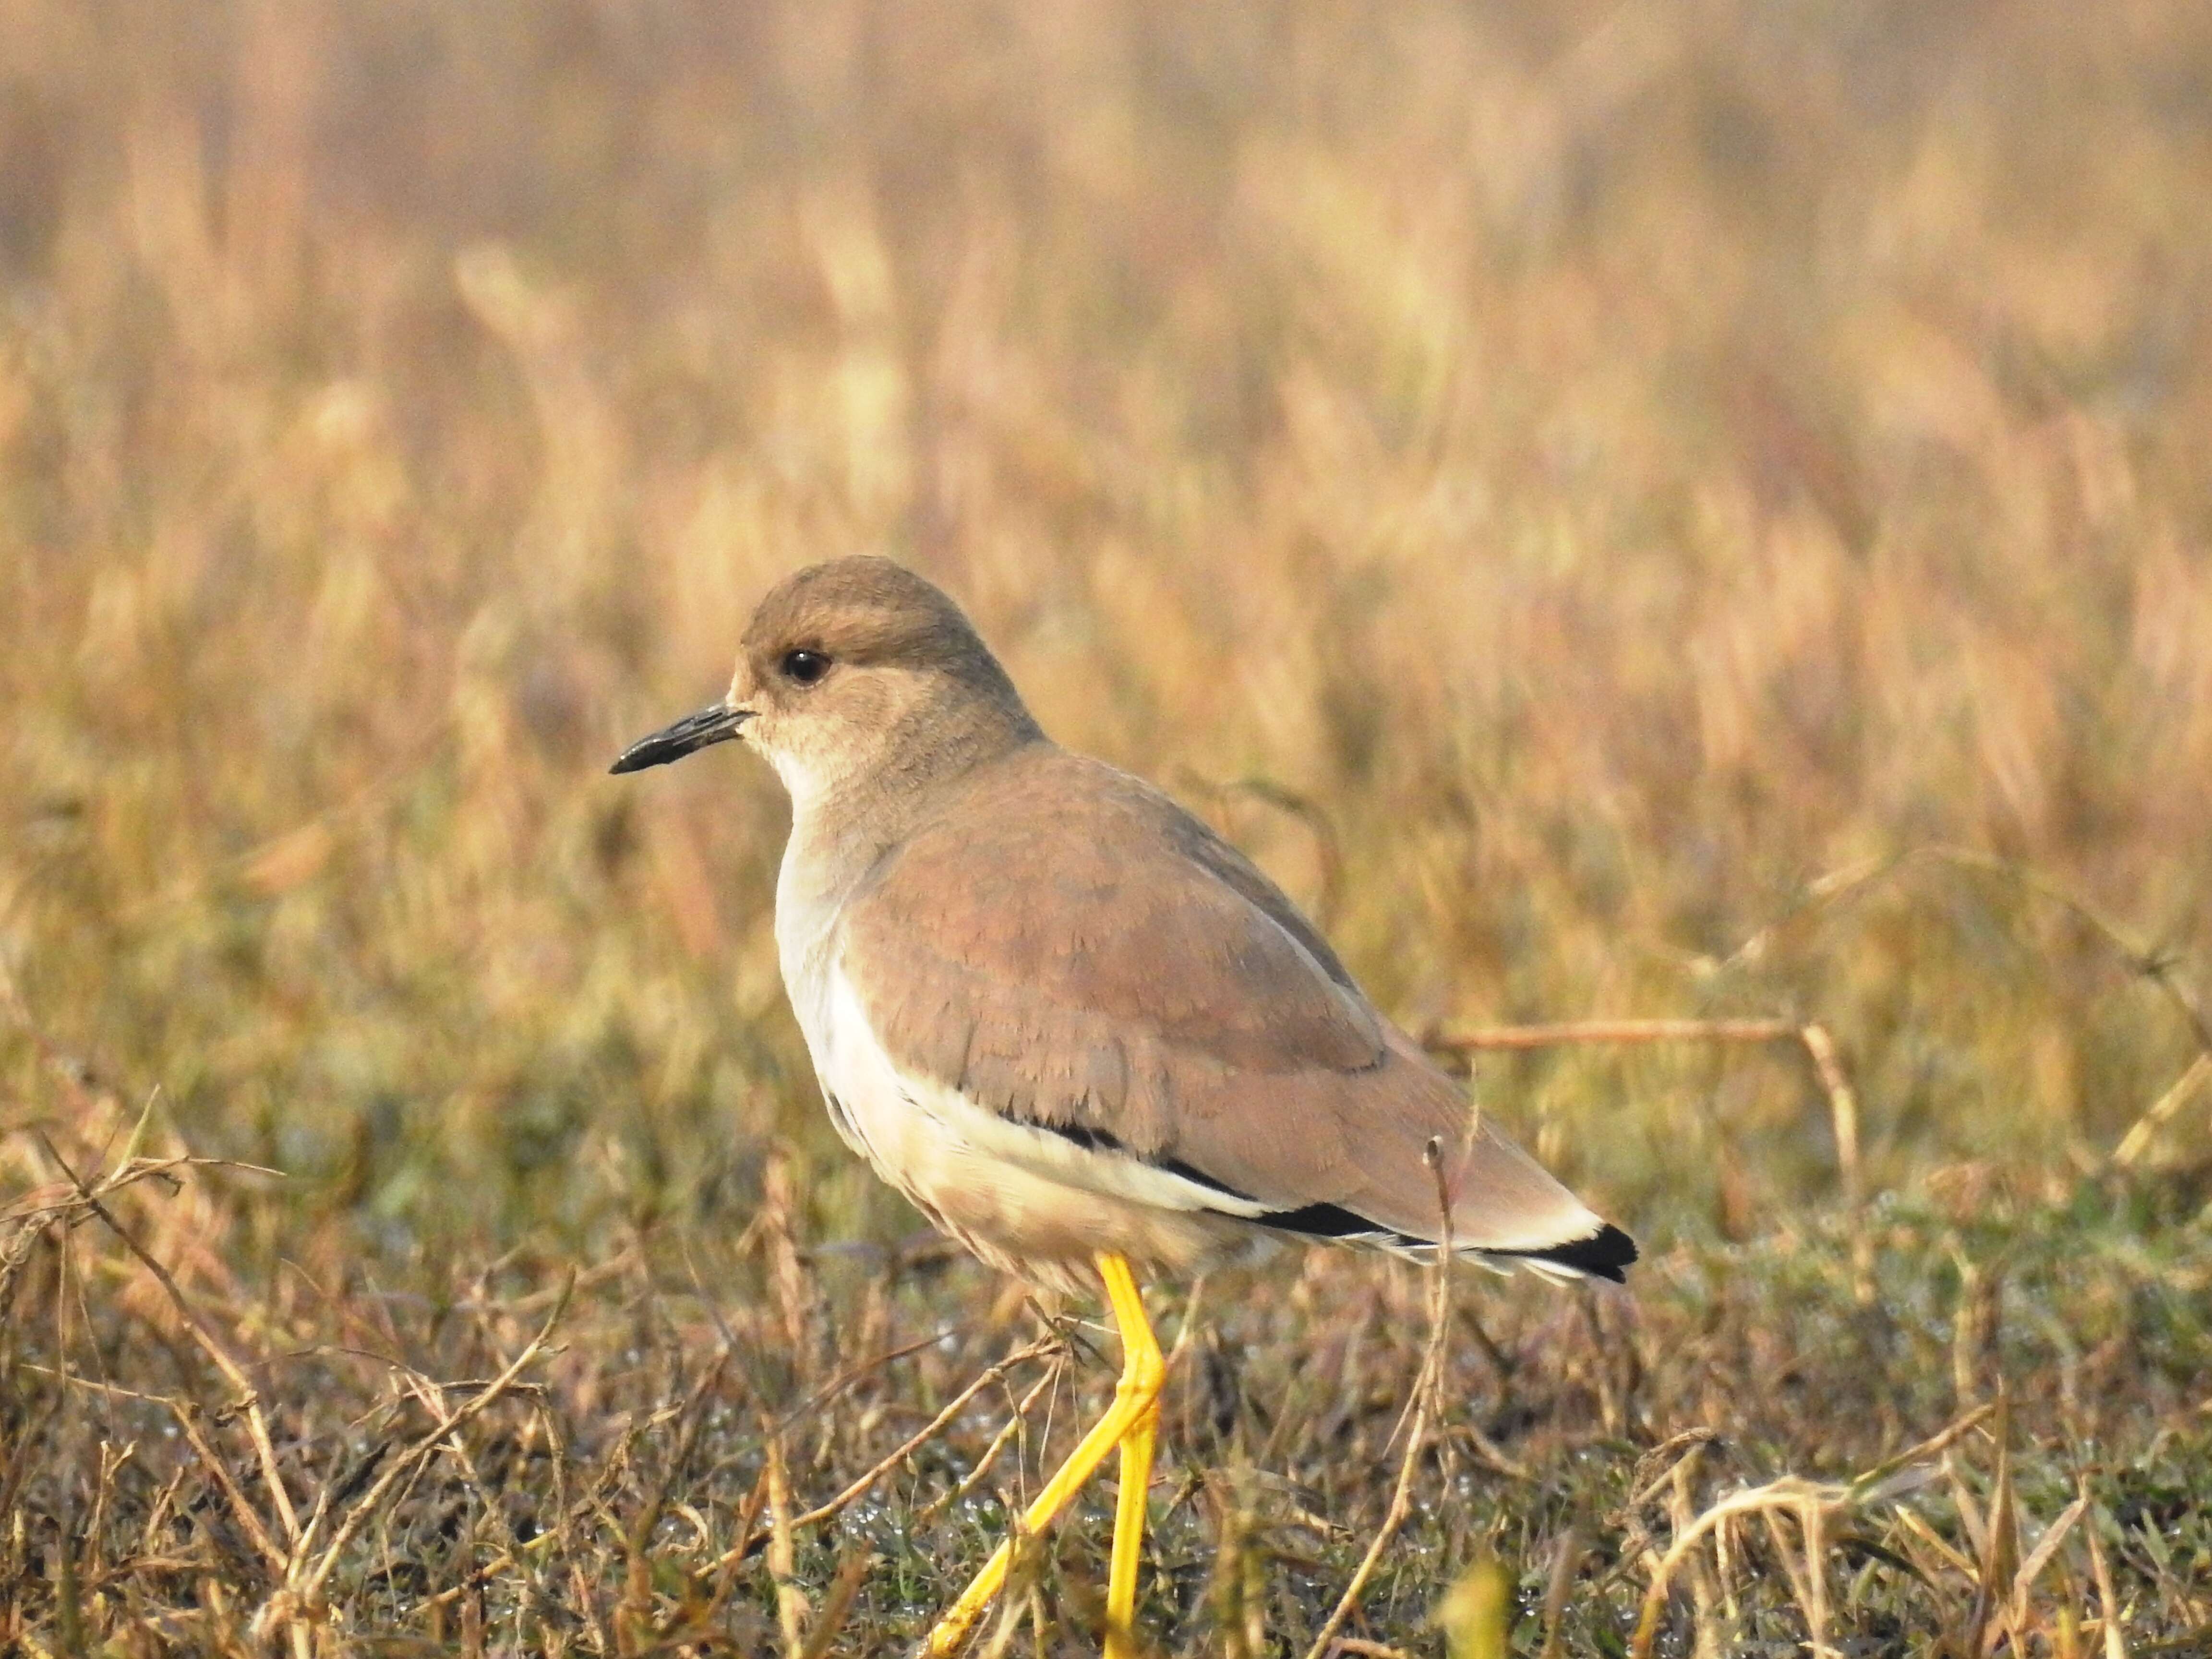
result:
[(1577, 1245), (1619, 1239), (1486, 1124), (1469, 1139), (1460, 1086), (1237, 849), (1108, 765), (1020, 761), (845, 905), (841, 971), (902, 1075), (1263, 1225), (1433, 1241), (1436, 1139), (1460, 1248), (1586, 1267)]

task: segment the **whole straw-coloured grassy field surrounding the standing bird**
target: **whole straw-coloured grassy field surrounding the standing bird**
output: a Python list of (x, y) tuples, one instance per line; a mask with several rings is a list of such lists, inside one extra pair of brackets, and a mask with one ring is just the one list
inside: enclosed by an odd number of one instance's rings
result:
[(0, 1648), (980, 1564), (1113, 1345), (836, 1146), (765, 768), (604, 776), (847, 551), (1409, 1029), (1781, 1022), (1473, 1051), (1626, 1294), (1157, 1292), (1161, 1652), (2212, 1644), (2212, 9), (15, 0)]

